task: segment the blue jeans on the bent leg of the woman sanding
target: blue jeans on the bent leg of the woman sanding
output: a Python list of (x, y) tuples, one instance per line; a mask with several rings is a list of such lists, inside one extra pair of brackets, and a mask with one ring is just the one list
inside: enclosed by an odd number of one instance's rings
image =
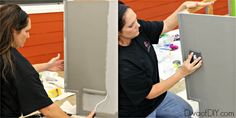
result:
[(179, 96), (167, 92), (162, 103), (147, 118), (191, 118), (192, 107)]

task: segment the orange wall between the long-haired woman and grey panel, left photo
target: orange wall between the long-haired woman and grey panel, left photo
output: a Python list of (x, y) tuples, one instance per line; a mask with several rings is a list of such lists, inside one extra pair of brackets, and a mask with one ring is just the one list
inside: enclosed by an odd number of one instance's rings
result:
[(63, 12), (30, 14), (32, 28), (30, 38), (19, 51), (32, 63), (49, 61), (63, 49)]

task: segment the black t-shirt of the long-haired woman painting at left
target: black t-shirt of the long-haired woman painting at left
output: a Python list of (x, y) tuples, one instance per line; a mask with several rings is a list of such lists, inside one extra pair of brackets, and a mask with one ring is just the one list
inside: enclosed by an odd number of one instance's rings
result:
[[(1, 117), (19, 117), (51, 105), (39, 79), (38, 72), (15, 49), (11, 49), (14, 63), (14, 75), (8, 74), (6, 80), (1, 78)], [(2, 56), (0, 57), (1, 72), (3, 69)]]

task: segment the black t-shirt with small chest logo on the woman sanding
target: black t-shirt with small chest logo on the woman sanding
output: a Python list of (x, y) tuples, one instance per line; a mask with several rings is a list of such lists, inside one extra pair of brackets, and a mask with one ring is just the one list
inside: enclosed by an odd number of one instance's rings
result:
[(138, 21), (140, 34), (129, 46), (119, 46), (119, 117), (146, 117), (162, 102), (166, 92), (146, 99), (159, 82), (157, 44), (163, 22)]

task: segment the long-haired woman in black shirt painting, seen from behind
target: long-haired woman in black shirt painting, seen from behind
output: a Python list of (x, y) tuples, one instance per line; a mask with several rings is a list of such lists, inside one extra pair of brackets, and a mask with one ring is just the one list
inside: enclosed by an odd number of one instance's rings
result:
[(18, 5), (0, 7), (0, 117), (39, 110), (46, 117), (68, 117), (45, 92), (38, 72), (16, 50), (29, 38), (31, 21)]

